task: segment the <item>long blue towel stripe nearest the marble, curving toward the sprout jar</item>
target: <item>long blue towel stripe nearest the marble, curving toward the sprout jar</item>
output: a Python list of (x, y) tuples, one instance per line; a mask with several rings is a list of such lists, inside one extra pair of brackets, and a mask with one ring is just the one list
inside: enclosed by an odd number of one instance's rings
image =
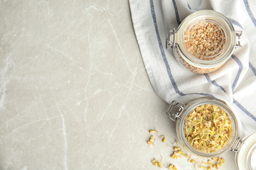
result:
[(155, 13), (155, 9), (154, 9), (153, 0), (150, 0), (150, 9), (151, 9), (151, 14), (152, 14), (154, 26), (155, 26), (155, 29), (156, 29), (156, 37), (158, 38), (158, 45), (159, 45), (159, 48), (160, 48), (161, 56), (162, 56), (163, 61), (165, 63), (165, 67), (167, 69), (168, 76), (171, 80), (171, 84), (173, 85), (173, 88), (175, 89), (175, 92), (178, 93), (181, 96), (196, 94), (196, 95), (203, 95), (203, 96), (207, 96), (207, 97), (213, 97), (214, 99), (216, 99), (215, 96), (213, 96), (209, 93), (188, 93), (188, 94), (184, 94), (179, 90), (179, 88), (178, 88), (178, 86), (175, 82), (175, 79), (173, 78), (173, 75), (171, 74), (171, 69), (170, 69), (169, 63), (166, 59), (165, 52), (163, 50), (163, 44), (161, 43), (161, 39), (160, 39), (159, 31), (158, 31), (158, 24), (156, 22), (156, 13)]

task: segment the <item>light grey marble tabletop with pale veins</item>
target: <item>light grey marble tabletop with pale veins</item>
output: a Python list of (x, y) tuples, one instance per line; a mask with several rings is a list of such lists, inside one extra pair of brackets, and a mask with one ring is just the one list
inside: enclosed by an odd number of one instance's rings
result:
[(0, 1), (0, 23), (0, 169), (194, 169), (169, 157), (128, 1)]

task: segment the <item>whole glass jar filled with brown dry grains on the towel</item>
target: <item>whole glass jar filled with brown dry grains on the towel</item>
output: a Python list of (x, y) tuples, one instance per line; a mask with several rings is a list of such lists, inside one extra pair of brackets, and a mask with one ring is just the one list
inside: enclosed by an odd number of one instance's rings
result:
[(242, 47), (242, 31), (234, 31), (230, 20), (214, 10), (200, 10), (187, 16), (178, 29), (169, 31), (166, 48), (186, 69), (211, 73), (224, 65), (234, 48)]

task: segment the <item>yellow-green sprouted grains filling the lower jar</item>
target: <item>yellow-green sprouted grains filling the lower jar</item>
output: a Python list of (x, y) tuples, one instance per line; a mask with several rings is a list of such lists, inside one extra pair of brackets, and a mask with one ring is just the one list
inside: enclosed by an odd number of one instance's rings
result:
[(184, 136), (200, 152), (217, 152), (232, 139), (232, 120), (217, 105), (200, 105), (193, 109), (184, 122)]

